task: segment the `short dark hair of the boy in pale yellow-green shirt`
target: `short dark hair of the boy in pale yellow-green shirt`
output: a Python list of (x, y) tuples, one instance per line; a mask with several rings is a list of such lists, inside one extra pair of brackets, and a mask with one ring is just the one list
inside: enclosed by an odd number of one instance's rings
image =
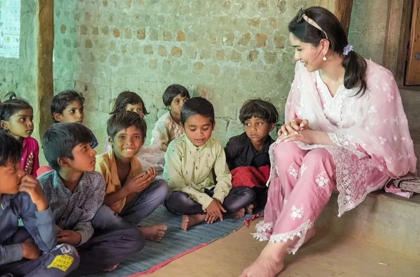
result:
[(203, 97), (193, 97), (181, 108), (181, 124), (184, 125), (189, 117), (200, 115), (202, 117), (210, 118), (211, 123), (214, 124), (214, 108), (209, 100)]

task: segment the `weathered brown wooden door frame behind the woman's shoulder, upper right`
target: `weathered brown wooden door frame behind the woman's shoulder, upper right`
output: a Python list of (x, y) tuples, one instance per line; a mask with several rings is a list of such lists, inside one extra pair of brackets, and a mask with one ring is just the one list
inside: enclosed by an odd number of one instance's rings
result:
[(388, 0), (387, 28), (382, 64), (404, 86), (413, 0)]

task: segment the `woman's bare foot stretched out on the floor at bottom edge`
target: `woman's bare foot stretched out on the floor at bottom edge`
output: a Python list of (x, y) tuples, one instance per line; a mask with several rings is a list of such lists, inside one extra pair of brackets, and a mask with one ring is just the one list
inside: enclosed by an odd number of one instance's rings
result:
[(269, 242), (259, 257), (239, 277), (274, 277), (284, 268), (285, 242)]

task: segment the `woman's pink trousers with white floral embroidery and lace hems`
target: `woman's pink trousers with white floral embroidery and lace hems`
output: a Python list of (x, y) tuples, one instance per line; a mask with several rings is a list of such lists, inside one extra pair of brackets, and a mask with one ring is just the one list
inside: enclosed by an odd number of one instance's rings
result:
[(293, 142), (274, 149), (278, 177), (268, 189), (264, 221), (254, 237), (263, 240), (293, 240), (288, 248), (295, 253), (314, 233), (313, 225), (336, 187), (336, 164), (325, 148), (302, 150)]

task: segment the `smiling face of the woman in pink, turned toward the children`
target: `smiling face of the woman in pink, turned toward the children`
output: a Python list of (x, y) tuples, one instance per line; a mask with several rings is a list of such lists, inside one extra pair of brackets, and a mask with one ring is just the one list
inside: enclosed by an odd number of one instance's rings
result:
[(324, 62), (322, 60), (324, 57), (322, 43), (314, 47), (310, 43), (298, 40), (292, 33), (290, 33), (289, 39), (294, 48), (294, 59), (296, 61), (303, 63), (309, 72), (315, 72), (322, 67)]

